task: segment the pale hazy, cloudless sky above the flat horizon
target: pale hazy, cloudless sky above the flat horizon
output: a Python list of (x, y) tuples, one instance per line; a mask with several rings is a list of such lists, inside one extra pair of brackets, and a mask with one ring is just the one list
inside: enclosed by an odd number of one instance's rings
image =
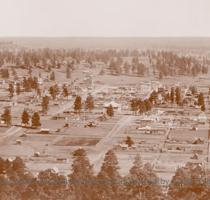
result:
[(210, 36), (210, 0), (0, 0), (0, 36)]

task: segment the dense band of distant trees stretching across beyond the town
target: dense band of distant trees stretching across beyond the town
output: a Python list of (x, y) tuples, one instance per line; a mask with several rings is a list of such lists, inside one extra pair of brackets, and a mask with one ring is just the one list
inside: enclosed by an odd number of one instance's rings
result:
[[(127, 61), (127, 57), (131, 57), (131, 61)], [(142, 59), (143, 58), (143, 59)], [(144, 62), (147, 58), (147, 64)], [(159, 78), (165, 76), (185, 75), (197, 76), (199, 74), (207, 74), (210, 60), (203, 56), (197, 58), (192, 55), (179, 55), (173, 51), (163, 50), (84, 50), (84, 49), (33, 49), (0, 52), (0, 67), (5, 64), (14, 65), (17, 68), (28, 69), (37, 67), (44, 70), (52, 71), (53, 68), (66, 67), (66, 76), (70, 78), (70, 73), (74, 69), (75, 64), (80, 61), (86, 61), (90, 66), (94, 66), (94, 62), (103, 62), (108, 66), (112, 75), (148, 75), (148, 67), (153, 69), (153, 73), (159, 73)], [(13, 68), (13, 67), (12, 67)], [(101, 74), (105, 73), (105, 68)], [(0, 70), (2, 77), (8, 78), (7, 68)], [(51, 79), (53, 80), (53, 74)]]

